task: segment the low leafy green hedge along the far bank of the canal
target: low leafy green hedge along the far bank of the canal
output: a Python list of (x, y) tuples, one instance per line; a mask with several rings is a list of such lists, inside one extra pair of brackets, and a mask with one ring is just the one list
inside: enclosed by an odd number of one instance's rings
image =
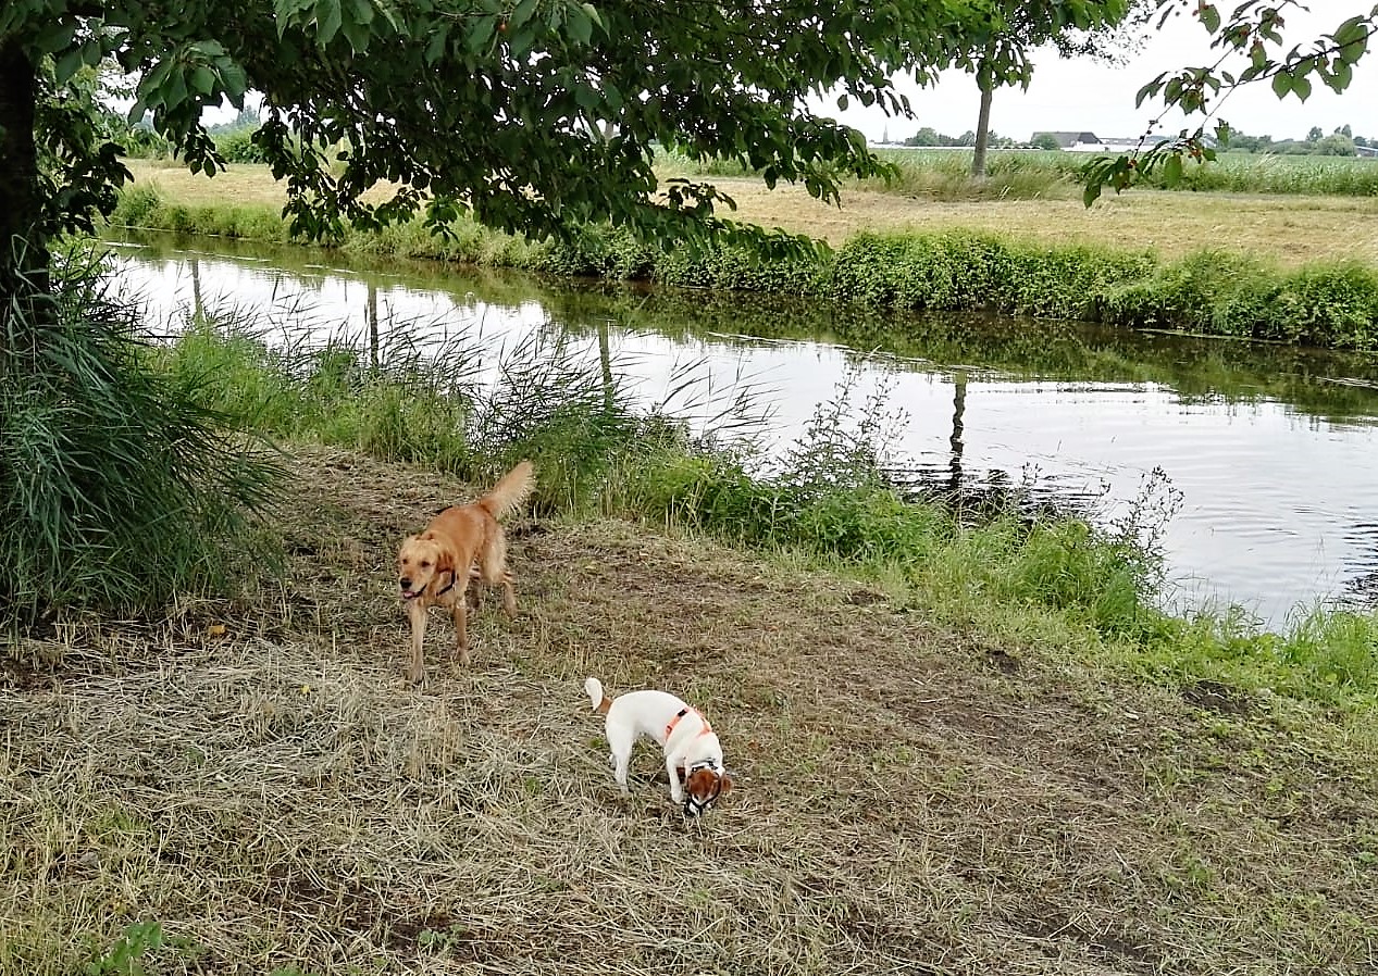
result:
[[(271, 206), (185, 206), (141, 184), (110, 224), (278, 244), (294, 238)], [(1200, 251), (1177, 262), (1094, 245), (1049, 246), (974, 231), (857, 234), (836, 251), (768, 256), (762, 248), (659, 251), (626, 230), (587, 224), (532, 242), (471, 220), (431, 234), (420, 220), (349, 229), (336, 246), (564, 277), (784, 293), (904, 311), (988, 311), (1131, 329), (1378, 350), (1378, 270), (1359, 263), (1282, 270), (1248, 255)]]

